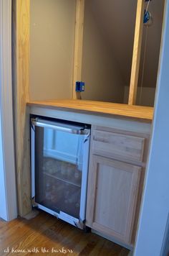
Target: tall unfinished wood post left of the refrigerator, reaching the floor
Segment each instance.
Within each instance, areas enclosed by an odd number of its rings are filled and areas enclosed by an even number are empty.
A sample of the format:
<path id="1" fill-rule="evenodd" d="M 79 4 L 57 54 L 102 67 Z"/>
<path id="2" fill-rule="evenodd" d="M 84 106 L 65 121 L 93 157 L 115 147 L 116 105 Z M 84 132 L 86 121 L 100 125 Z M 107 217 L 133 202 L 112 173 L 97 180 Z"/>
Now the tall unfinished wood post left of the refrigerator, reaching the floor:
<path id="1" fill-rule="evenodd" d="M 16 170 L 19 215 L 31 211 L 29 161 L 29 0 L 14 0 L 13 11 L 13 76 Z"/>

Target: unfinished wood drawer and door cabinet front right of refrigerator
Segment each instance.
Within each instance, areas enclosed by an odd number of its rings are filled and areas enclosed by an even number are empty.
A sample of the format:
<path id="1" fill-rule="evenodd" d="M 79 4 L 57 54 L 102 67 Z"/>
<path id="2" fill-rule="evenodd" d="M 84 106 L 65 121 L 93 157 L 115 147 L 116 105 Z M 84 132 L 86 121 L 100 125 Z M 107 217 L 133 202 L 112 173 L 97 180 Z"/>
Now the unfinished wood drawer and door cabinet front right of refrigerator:
<path id="1" fill-rule="evenodd" d="M 86 224 L 130 245 L 135 239 L 147 143 L 143 134 L 92 128 Z"/>

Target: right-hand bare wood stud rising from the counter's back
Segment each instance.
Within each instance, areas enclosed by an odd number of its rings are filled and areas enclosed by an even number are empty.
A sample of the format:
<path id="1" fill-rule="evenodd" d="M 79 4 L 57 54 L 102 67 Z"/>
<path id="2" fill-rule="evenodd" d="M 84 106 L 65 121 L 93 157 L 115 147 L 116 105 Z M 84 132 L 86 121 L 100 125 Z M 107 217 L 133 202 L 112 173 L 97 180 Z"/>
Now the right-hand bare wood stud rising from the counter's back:
<path id="1" fill-rule="evenodd" d="M 130 92 L 128 104 L 134 105 L 137 96 L 137 82 L 140 67 L 140 54 L 143 36 L 143 15 L 145 0 L 137 0 L 137 14 L 135 22 L 135 39 L 132 52 L 132 71 L 130 77 Z"/>

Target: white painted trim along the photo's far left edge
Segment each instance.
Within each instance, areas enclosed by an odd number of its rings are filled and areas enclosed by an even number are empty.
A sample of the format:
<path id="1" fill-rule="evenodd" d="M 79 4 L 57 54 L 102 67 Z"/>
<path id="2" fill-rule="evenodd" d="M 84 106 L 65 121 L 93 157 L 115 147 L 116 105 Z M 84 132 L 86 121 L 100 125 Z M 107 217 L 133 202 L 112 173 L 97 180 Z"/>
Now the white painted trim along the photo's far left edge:
<path id="1" fill-rule="evenodd" d="M 0 216 L 17 216 L 11 83 L 11 0 L 0 0 Z"/>

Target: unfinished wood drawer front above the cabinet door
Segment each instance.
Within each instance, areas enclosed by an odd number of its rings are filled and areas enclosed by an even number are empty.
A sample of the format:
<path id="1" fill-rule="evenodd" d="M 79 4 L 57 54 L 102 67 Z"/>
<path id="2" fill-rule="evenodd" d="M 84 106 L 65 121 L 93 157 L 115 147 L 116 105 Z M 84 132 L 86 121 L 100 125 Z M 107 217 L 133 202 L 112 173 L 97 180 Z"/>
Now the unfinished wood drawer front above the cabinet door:
<path id="1" fill-rule="evenodd" d="M 93 131 L 92 152 L 124 160 L 143 161 L 145 138 L 117 134 L 99 129 Z"/>

